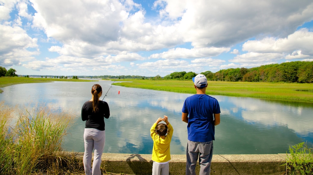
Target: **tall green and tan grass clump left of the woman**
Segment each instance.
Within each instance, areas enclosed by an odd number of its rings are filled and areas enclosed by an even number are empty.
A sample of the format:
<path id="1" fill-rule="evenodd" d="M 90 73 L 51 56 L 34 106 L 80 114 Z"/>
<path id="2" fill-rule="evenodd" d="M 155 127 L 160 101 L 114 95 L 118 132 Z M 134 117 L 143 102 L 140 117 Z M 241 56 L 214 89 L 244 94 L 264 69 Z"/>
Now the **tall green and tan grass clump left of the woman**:
<path id="1" fill-rule="evenodd" d="M 59 174 L 82 171 L 82 161 L 61 148 L 71 115 L 49 108 L 14 111 L 0 102 L 0 174 Z M 10 122 L 9 120 L 16 120 Z M 14 123 L 9 125 L 8 123 Z"/>

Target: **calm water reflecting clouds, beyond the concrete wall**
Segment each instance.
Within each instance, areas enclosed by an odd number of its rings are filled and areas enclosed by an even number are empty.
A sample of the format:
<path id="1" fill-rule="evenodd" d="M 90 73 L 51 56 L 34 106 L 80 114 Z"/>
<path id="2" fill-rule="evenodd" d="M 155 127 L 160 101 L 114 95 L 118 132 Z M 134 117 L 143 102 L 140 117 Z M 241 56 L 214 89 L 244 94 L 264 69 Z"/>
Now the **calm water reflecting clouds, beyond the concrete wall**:
<path id="1" fill-rule="evenodd" d="M 93 84 L 100 84 L 105 94 L 111 83 L 17 84 L 3 87 L 0 101 L 19 108 L 45 103 L 55 110 L 74 112 L 74 125 L 68 129 L 63 148 L 83 152 L 85 122 L 80 117 L 81 107 L 91 98 Z M 104 98 L 111 112 L 110 118 L 105 119 L 104 152 L 151 154 L 150 128 L 158 117 L 167 115 L 174 128 L 171 154 L 185 154 L 187 124 L 181 120 L 181 109 L 190 95 L 113 85 Z M 214 154 L 277 154 L 286 153 L 289 146 L 303 141 L 313 143 L 312 104 L 213 97 L 221 107 L 221 123 L 215 127 Z"/>

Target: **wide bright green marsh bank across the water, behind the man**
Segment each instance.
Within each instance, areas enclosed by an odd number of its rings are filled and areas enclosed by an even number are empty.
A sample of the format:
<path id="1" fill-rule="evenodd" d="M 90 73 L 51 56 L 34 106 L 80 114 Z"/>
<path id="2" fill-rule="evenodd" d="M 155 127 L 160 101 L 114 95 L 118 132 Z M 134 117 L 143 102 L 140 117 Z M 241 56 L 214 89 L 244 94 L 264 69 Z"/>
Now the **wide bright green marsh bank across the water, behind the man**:
<path id="1" fill-rule="evenodd" d="M 193 82 L 180 80 L 119 80 L 117 86 L 177 93 L 195 93 Z M 252 97 L 269 100 L 313 103 L 313 83 L 208 82 L 209 95 Z"/>

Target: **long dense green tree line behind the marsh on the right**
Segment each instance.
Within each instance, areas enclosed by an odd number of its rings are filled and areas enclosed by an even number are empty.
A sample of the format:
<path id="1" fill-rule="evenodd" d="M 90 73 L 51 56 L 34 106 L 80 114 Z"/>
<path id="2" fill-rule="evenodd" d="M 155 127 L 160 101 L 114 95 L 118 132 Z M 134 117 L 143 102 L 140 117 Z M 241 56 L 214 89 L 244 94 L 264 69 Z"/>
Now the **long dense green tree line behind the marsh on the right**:
<path id="1" fill-rule="evenodd" d="M 253 68 L 229 68 L 218 72 L 201 72 L 211 81 L 229 82 L 313 82 L 313 61 L 293 61 Z M 194 72 L 173 72 L 163 79 L 189 80 Z"/>

